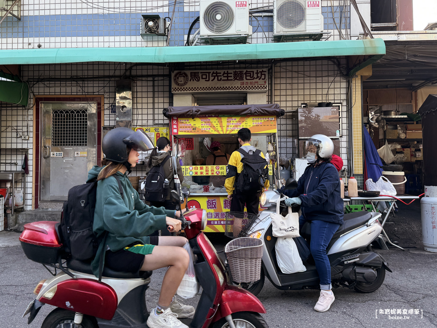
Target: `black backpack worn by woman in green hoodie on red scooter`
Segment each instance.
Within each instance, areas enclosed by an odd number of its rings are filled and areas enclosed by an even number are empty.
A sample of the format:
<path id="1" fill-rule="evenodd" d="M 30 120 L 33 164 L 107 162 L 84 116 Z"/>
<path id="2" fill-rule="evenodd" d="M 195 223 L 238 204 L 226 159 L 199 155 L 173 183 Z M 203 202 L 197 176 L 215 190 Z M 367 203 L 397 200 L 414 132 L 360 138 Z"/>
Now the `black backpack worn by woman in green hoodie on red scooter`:
<path id="1" fill-rule="evenodd" d="M 120 179 L 120 195 L 123 197 Z M 76 185 L 68 191 L 68 200 L 64 202 L 61 213 L 60 230 L 64 251 L 75 260 L 85 261 L 94 258 L 97 248 L 106 234 L 97 237 L 93 231 L 94 209 L 96 207 L 96 179 Z"/>

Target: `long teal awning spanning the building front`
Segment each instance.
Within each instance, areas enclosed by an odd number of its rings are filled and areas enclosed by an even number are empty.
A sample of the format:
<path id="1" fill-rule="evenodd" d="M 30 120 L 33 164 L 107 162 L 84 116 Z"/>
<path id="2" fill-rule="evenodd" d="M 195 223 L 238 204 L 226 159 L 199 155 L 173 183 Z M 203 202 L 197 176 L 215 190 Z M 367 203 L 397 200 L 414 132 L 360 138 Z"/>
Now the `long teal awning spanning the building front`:
<path id="1" fill-rule="evenodd" d="M 379 59 L 384 54 L 384 41 L 375 38 L 186 47 L 6 49 L 0 50 L 0 64 L 187 63 L 327 56 L 374 56 Z"/>

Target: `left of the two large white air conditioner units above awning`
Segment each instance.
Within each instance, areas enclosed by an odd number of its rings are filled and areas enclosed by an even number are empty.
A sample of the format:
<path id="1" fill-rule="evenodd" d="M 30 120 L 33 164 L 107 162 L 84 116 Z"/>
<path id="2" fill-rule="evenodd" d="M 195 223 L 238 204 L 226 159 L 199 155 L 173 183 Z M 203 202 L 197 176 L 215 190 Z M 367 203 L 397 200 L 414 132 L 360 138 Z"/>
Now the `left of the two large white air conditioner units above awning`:
<path id="1" fill-rule="evenodd" d="M 200 36 L 229 38 L 233 35 L 252 35 L 249 0 L 201 0 Z"/>

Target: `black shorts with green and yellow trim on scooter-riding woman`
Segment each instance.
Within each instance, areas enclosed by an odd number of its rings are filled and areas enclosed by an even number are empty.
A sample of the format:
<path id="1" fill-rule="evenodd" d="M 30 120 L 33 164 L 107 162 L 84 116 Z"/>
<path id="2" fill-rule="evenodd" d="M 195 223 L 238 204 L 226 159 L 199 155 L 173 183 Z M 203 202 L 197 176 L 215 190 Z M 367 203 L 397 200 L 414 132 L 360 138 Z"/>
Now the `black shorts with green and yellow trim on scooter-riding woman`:
<path id="1" fill-rule="evenodd" d="M 144 249 L 144 253 L 151 254 L 153 247 L 158 245 L 159 237 L 152 236 L 150 237 L 150 244 L 144 245 L 146 248 Z M 138 243 L 134 243 L 128 245 L 130 248 L 134 248 L 135 245 L 139 245 Z M 152 246 L 152 247 L 150 247 Z M 141 246 L 137 246 L 141 247 Z M 114 271 L 122 271 L 122 272 L 131 272 L 139 274 L 139 269 L 141 269 L 144 263 L 144 255 L 140 254 L 141 251 L 135 247 L 134 251 L 129 251 L 128 249 L 122 248 L 119 251 L 106 251 L 105 254 L 105 266 Z M 149 251 L 149 252 L 147 252 Z"/>

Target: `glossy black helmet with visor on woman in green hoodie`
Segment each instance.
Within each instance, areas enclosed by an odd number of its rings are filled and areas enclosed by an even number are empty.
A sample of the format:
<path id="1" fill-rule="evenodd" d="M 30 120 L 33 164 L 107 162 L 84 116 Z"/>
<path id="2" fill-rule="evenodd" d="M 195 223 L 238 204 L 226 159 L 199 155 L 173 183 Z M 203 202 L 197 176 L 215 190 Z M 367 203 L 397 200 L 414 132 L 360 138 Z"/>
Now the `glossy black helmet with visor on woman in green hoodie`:
<path id="1" fill-rule="evenodd" d="M 125 163 L 129 157 L 127 147 L 137 151 L 146 151 L 154 146 L 142 130 L 115 128 L 106 133 L 103 138 L 103 157 L 111 162 Z"/>

